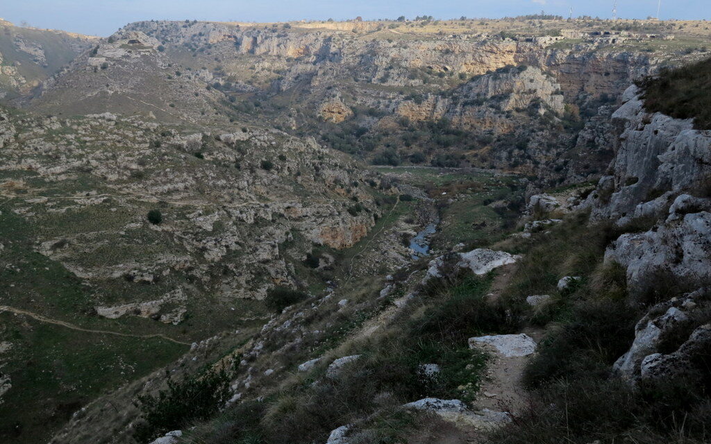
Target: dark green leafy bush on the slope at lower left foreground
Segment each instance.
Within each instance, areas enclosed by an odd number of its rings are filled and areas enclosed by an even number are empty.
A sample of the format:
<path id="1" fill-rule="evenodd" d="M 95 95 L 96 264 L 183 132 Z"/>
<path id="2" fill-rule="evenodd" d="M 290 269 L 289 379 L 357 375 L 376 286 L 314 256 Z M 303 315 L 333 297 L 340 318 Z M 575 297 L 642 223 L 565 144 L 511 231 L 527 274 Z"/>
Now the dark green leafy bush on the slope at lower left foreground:
<path id="1" fill-rule="evenodd" d="M 185 428 L 193 421 L 204 421 L 220 411 L 230 399 L 231 375 L 225 370 L 208 370 L 183 381 L 171 379 L 166 372 L 168 389 L 157 396 L 138 396 L 141 423 L 136 428 L 139 442 L 147 442 L 169 431 Z"/>

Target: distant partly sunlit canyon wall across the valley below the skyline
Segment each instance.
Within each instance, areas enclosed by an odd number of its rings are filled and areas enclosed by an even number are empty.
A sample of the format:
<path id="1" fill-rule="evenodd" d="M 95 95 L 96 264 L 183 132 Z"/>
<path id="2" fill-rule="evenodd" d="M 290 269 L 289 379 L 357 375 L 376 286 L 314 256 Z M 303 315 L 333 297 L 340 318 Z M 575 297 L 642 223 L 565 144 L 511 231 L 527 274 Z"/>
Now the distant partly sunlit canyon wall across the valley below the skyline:
<path id="1" fill-rule="evenodd" d="M 269 119 L 375 163 L 506 168 L 552 185 L 596 178 L 609 161 L 609 147 L 581 143 L 604 128 L 579 137 L 601 105 L 659 65 L 695 57 L 602 40 L 316 24 L 132 23 L 26 104 L 191 124 Z"/>

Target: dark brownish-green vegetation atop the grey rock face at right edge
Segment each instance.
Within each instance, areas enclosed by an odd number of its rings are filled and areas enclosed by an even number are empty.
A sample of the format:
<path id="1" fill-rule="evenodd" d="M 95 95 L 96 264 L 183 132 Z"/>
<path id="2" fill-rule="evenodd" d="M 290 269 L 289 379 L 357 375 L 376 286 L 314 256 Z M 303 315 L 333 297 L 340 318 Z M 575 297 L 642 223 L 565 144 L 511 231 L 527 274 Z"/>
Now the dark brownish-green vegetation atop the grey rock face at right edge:
<path id="1" fill-rule="evenodd" d="M 694 119 L 696 129 L 711 129 L 711 58 L 665 69 L 637 82 L 644 106 L 677 119 Z"/>

